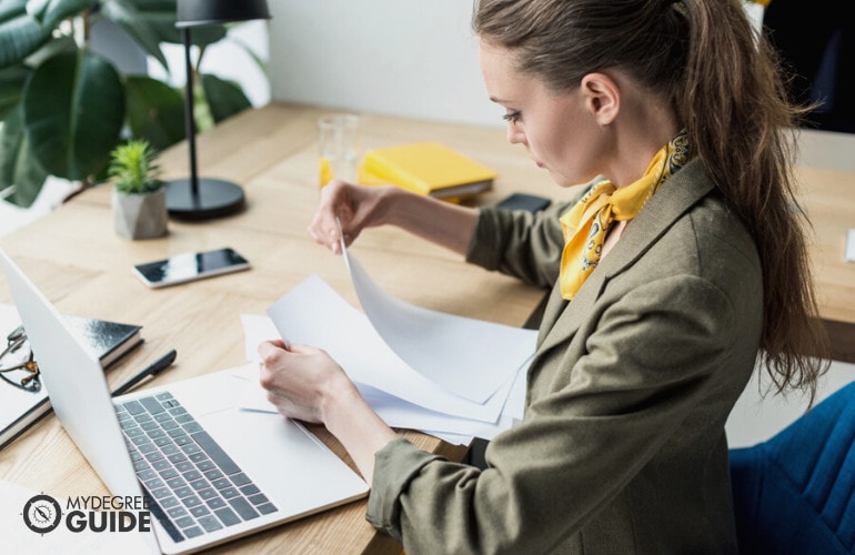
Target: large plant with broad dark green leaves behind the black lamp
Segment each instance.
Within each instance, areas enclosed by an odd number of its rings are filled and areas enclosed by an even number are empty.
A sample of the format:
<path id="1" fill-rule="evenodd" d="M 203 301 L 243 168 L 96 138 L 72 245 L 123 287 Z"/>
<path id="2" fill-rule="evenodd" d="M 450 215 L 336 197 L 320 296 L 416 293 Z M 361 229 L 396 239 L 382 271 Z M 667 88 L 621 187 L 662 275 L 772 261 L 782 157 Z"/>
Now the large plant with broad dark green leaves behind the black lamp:
<path id="1" fill-rule="evenodd" d="M 50 175 L 82 189 L 103 181 L 124 140 L 161 151 L 184 139 L 182 90 L 124 74 L 90 48 L 105 20 L 169 72 L 161 44 L 183 43 L 175 12 L 177 0 L 0 0 L 0 192 L 11 191 L 9 202 L 29 206 Z M 199 132 L 251 105 L 240 85 L 199 72 L 205 47 L 225 36 L 223 26 L 193 32 Z"/>

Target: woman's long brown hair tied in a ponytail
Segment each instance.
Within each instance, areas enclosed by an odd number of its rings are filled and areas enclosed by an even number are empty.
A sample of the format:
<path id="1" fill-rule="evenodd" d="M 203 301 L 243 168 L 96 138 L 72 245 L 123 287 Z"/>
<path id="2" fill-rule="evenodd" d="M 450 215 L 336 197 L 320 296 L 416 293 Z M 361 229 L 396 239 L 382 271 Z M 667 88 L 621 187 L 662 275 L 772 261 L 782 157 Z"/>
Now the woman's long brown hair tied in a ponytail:
<path id="1" fill-rule="evenodd" d="M 668 99 L 763 266 L 761 355 L 775 389 L 827 367 L 792 173 L 796 125 L 775 52 L 741 0 L 476 0 L 473 29 L 555 91 L 617 68 Z"/>

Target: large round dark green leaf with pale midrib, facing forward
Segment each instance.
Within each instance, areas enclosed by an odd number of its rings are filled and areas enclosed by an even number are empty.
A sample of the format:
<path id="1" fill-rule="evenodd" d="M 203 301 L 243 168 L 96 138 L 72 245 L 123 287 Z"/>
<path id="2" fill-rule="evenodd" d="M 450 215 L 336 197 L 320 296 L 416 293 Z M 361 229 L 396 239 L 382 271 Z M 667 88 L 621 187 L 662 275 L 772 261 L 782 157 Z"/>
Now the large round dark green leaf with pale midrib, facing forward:
<path id="1" fill-rule="evenodd" d="M 52 174 L 84 180 L 101 171 L 119 142 L 124 90 L 115 69 L 81 50 L 42 63 L 23 95 L 27 135 Z"/>

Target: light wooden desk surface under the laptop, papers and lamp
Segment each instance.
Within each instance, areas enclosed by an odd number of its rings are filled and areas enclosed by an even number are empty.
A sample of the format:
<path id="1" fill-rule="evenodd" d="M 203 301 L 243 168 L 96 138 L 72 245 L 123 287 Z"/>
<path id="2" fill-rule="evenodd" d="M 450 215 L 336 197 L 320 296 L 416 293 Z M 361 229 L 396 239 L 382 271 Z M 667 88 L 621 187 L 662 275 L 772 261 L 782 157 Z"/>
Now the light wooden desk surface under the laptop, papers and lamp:
<path id="1" fill-rule="evenodd" d="M 272 104 L 199 137 L 200 174 L 242 184 L 248 209 L 241 214 L 208 223 L 171 221 L 169 236 L 132 242 L 113 232 L 110 189 L 102 185 L 0 238 L 0 246 L 60 311 L 143 325 L 145 343 L 108 373 L 112 386 L 173 347 L 177 366 L 159 376 L 159 384 L 242 364 L 240 314 L 263 314 L 309 275 L 320 275 L 358 305 L 343 261 L 305 233 L 318 202 L 314 122 L 322 112 Z M 445 142 L 499 172 L 495 190 L 479 202 L 494 203 L 513 191 L 556 200 L 573 194 L 556 188 L 522 149 L 509 147 L 502 129 L 364 118 L 363 148 L 424 140 Z M 165 152 L 161 167 L 165 179 L 185 176 L 187 149 Z M 823 316 L 853 326 L 855 264 L 844 263 L 842 253 L 843 233 L 855 226 L 855 206 L 841 200 L 855 190 L 855 174 L 803 169 L 801 175 L 808 185 L 805 204 L 816 230 L 814 264 Z M 222 245 L 245 254 L 253 269 L 160 291 L 144 287 L 130 271 L 133 263 Z M 469 266 L 457 255 L 394 228 L 366 231 L 353 249 L 389 293 L 429 309 L 522 325 L 543 297 L 543 290 Z M 4 283 L 0 302 L 11 302 Z M 350 462 L 329 434 L 313 431 Z M 423 448 L 462 456 L 462 448 L 433 437 L 402 434 Z M 0 452 L 0 478 L 56 497 L 108 494 L 52 416 Z M 364 521 L 364 501 L 352 503 L 220 551 L 400 553 L 400 545 Z"/>

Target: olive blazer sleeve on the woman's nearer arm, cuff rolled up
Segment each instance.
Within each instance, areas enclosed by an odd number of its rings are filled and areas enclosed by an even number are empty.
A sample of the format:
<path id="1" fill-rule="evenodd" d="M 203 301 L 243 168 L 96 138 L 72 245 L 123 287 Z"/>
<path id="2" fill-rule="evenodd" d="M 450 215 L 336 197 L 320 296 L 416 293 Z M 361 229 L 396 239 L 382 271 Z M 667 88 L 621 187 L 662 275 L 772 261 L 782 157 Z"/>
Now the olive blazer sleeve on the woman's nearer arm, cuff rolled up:
<path id="1" fill-rule="evenodd" d="M 603 311 L 586 354 L 534 361 L 530 372 L 554 372 L 555 385 L 491 443 L 486 470 L 403 440 L 381 450 L 368 519 L 408 553 L 554 552 L 732 380 L 734 314 L 698 276 L 637 287 Z M 725 404 L 711 412 L 726 417 Z"/>

